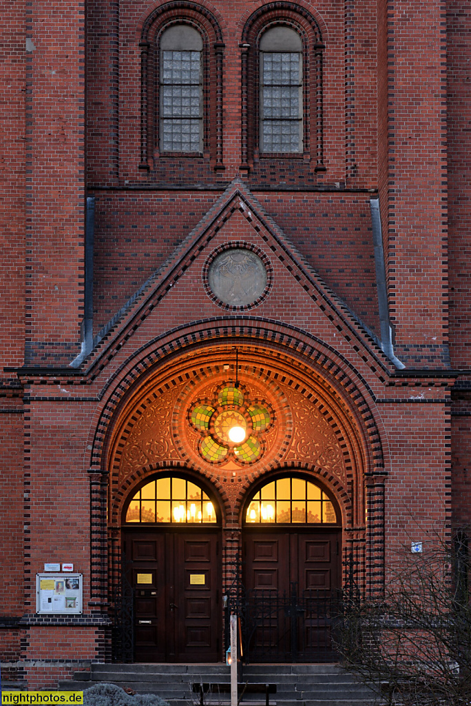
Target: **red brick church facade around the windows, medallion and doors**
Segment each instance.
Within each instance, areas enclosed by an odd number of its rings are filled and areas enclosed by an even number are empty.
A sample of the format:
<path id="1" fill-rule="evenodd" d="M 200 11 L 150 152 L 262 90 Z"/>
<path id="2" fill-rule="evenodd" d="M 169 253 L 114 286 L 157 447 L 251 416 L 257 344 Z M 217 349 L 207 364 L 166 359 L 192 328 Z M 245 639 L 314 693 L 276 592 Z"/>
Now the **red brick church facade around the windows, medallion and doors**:
<path id="1" fill-rule="evenodd" d="M 466 527 L 467 5 L 8 0 L 1 16 L 3 676 L 52 687 L 111 658 L 123 509 L 158 473 L 212 494 L 221 588 L 270 474 L 330 493 L 369 594 L 398 549 Z M 197 155 L 159 148 L 159 37 L 178 23 L 202 37 Z M 298 154 L 259 149 L 258 43 L 279 25 L 302 38 Z M 247 306 L 208 282 L 228 248 L 267 271 Z M 274 432 L 256 462 L 212 465 L 190 400 L 238 375 Z M 64 561 L 82 614 L 36 614 L 36 574 Z"/>

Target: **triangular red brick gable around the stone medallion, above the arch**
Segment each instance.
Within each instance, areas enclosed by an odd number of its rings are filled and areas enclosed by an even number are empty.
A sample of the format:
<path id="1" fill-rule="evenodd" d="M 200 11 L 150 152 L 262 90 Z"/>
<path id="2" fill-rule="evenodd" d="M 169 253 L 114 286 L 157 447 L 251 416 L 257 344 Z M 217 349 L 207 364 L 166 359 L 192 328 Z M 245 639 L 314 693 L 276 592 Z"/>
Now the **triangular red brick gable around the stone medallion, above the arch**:
<path id="1" fill-rule="evenodd" d="M 229 251 L 252 253 L 252 260 L 260 261 L 266 270 L 263 291 L 253 301 L 221 301 L 210 285 L 212 262 Z M 121 348 L 126 340 L 131 353 L 134 347 L 174 328 L 242 312 L 294 326 L 336 349 L 344 348 L 343 354 L 355 350 L 356 357 L 360 345 L 381 359 L 382 365 L 386 361 L 375 337 L 331 292 L 245 184 L 236 179 L 102 330 L 88 363 L 102 357 L 111 342 Z"/>

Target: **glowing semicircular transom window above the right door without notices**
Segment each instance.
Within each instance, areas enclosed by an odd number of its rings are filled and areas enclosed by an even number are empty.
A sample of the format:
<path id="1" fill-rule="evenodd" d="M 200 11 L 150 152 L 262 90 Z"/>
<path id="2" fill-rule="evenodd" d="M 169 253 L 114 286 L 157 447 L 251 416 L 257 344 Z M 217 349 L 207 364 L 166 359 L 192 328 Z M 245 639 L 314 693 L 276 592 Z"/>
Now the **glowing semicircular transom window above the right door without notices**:
<path id="1" fill-rule="evenodd" d="M 280 478 L 255 493 L 245 522 L 253 524 L 335 525 L 336 511 L 319 486 L 302 478 Z"/>

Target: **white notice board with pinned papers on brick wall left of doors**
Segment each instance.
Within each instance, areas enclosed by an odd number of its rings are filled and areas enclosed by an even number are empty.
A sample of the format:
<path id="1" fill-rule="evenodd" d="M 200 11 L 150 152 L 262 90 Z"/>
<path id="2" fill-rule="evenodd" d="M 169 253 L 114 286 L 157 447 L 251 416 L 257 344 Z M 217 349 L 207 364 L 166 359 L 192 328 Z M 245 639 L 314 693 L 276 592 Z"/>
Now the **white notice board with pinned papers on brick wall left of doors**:
<path id="1" fill-rule="evenodd" d="M 36 574 L 36 612 L 76 614 L 82 612 L 82 574 Z"/>

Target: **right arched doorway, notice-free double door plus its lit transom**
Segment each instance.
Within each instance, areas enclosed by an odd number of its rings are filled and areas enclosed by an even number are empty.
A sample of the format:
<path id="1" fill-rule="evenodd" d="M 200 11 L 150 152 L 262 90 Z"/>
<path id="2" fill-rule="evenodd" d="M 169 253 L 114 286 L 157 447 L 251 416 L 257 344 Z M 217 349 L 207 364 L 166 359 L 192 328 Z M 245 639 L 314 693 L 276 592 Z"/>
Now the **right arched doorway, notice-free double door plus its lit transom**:
<path id="1" fill-rule="evenodd" d="M 274 474 L 243 509 L 245 652 L 251 662 L 324 662 L 341 589 L 341 513 L 319 480 Z"/>

